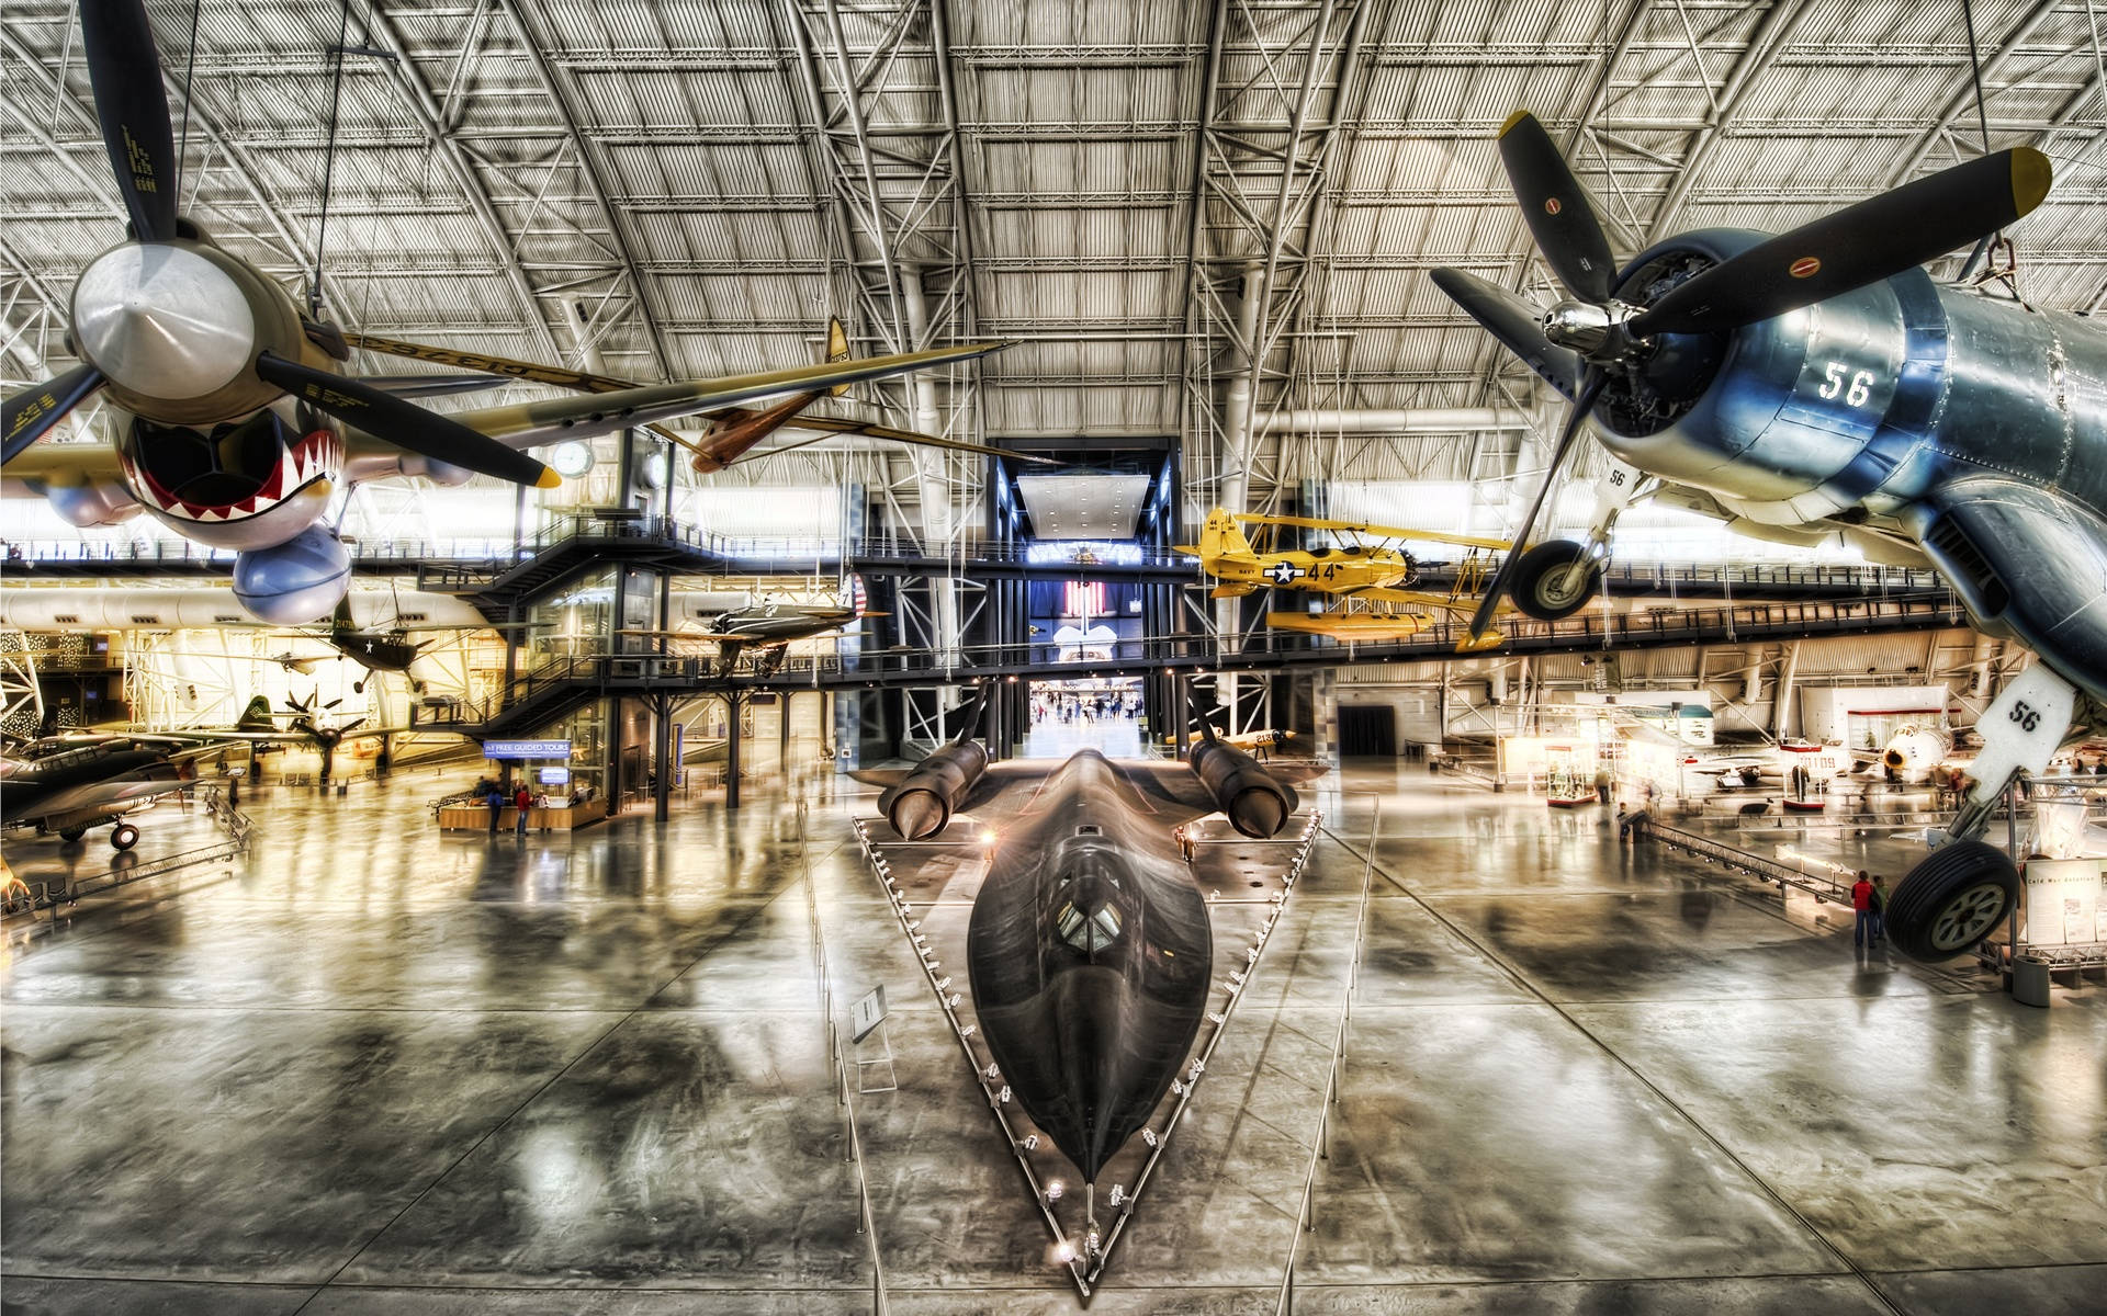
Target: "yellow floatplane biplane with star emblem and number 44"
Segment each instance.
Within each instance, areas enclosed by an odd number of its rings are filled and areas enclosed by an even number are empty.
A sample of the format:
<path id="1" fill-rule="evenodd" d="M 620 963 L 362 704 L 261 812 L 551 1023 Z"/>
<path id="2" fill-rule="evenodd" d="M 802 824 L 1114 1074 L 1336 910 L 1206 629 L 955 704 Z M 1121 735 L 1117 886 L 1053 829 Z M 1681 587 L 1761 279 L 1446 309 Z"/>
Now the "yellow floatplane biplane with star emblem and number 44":
<path id="1" fill-rule="evenodd" d="M 1243 535 L 1243 524 L 1332 531 L 1346 537 L 1348 543 L 1260 552 Z M 1456 564 L 1454 583 L 1448 590 L 1414 590 L 1412 585 L 1420 579 L 1420 562 L 1401 543 L 1448 543 L 1466 550 Z M 1178 547 L 1178 552 L 1199 558 L 1201 571 L 1216 581 L 1209 598 L 1243 598 L 1256 590 L 1302 590 L 1346 600 L 1346 606 L 1325 613 L 1266 613 L 1266 623 L 1348 642 L 1416 636 L 1426 627 L 1429 611 L 1469 615 L 1492 577 L 1494 554 L 1507 550 L 1507 539 L 1376 526 L 1359 520 L 1262 516 L 1224 507 L 1207 514 L 1197 545 Z M 1458 649 L 1494 649 L 1500 640 L 1502 636 L 1488 632 L 1483 640 L 1466 640 Z"/>

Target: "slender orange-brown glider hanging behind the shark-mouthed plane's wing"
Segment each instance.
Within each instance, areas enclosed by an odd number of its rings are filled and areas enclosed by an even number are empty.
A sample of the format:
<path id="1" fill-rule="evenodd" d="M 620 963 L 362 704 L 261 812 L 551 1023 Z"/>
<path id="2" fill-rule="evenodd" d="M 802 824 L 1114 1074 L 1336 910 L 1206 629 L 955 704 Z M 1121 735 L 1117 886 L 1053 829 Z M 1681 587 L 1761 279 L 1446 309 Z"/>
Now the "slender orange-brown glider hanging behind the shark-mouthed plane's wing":
<path id="1" fill-rule="evenodd" d="M 615 379 L 613 375 L 598 375 L 592 371 L 567 371 L 560 366 L 537 366 L 525 360 L 512 360 L 506 356 L 491 356 L 487 352 L 459 352 L 455 347 L 432 347 L 426 343 L 405 343 L 400 339 L 383 339 L 371 333 L 348 333 L 343 339 L 352 347 L 362 347 L 367 352 L 388 352 L 394 356 L 409 356 L 415 360 L 428 360 L 447 366 L 459 366 L 464 371 L 491 371 L 508 379 L 527 379 L 533 383 L 548 383 L 554 387 L 567 387 L 584 394 L 613 394 L 622 390 L 632 390 L 636 383 L 626 379 Z M 841 320 L 826 322 L 826 362 L 847 364 L 855 358 L 849 356 L 849 335 L 843 331 Z M 1030 461 L 1037 465 L 1060 465 L 1051 457 L 1032 457 L 1028 453 L 1011 453 L 1009 448 L 992 448 L 986 444 L 965 442 L 959 438 L 942 438 L 936 434 L 919 434 L 914 430 L 893 430 L 889 425 L 877 425 L 870 421 L 849 421 L 828 415 L 803 415 L 813 402 L 849 392 L 847 383 L 836 383 L 832 387 L 809 387 L 794 392 L 782 402 L 773 402 L 765 411 L 752 411 L 748 406 L 721 406 L 706 411 L 704 417 L 710 421 L 710 430 L 697 440 L 672 430 L 668 425 L 647 425 L 659 438 L 672 442 L 674 446 L 687 448 L 689 461 L 697 474 L 714 474 L 740 461 L 742 457 L 775 457 L 777 453 L 790 453 L 839 434 L 864 434 L 868 438 L 881 438 L 887 442 L 900 442 L 923 448 L 950 448 L 957 453 L 980 453 L 984 457 L 1003 457 L 1007 461 Z M 799 442 L 786 442 L 767 453 L 752 453 L 769 434 L 777 430 L 811 430 L 813 438 Z"/>

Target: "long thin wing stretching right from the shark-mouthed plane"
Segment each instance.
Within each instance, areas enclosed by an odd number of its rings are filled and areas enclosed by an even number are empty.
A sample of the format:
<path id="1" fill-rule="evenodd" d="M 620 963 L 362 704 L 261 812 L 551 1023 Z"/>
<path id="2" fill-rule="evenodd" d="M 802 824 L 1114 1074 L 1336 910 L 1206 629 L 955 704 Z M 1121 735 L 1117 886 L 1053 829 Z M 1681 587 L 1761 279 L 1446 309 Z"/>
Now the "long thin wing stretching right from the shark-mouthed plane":
<path id="1" fill-rule="evenodd" d="M 1007 343 L 963 343 L 959 347 L 929 347 L 927 352 L 900 352 L 895 356 L 866 356 L 847 362 L 818 366 L 792 366 L 788 371 L 763 371 L 759 375 L 727 375 L 721 379 L 683 379 L 678 383 L 651 383 L 579 398 L 550 398 L 544 402 L 516 402 L 510 406 L 485 406 L 478 411 L 457 411 L 449 419 L 497 438 L 514 448 L 563 442 L 571 438 L 592 438 L 636 425 L 670 421 L 697 411 L 716 411 L 750 398 L 771 394 L 794 394 L 826 390 L 836 383 L 858 379 L 883 379 L 927 366 L 976 360 L 999 352 Z"/>

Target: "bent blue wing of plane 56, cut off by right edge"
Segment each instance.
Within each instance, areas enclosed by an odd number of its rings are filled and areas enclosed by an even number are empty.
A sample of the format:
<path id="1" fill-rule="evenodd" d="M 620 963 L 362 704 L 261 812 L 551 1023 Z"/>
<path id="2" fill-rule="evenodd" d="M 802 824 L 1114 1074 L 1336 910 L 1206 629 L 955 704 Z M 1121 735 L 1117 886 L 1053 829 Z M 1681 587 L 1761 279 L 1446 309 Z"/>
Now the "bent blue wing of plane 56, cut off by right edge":
<path id="1" fill-rule="evenodd" d="M 2002 476 L 1949 480 L 1926 505 L 1917 539 L 1976 623 L 2008 625 L 2059 676 L 2107 699 L 2107 520 Z"/>

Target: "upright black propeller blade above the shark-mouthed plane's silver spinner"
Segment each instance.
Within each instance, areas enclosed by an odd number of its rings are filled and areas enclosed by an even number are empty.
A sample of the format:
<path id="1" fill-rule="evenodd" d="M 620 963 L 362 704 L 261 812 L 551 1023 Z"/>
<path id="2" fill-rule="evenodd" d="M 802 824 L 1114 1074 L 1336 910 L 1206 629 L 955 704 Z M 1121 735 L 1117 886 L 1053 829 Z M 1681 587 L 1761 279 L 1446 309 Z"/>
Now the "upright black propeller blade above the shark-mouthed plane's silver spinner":
<path id="1" fill-rule="evenodd" d="M 175 135 L 160 91 L 154 25 L 139 0 L 80 0 L 80 46 L 95 84 L 95 118 L 124 194 L 133 236 L 175 236 Z"/>

